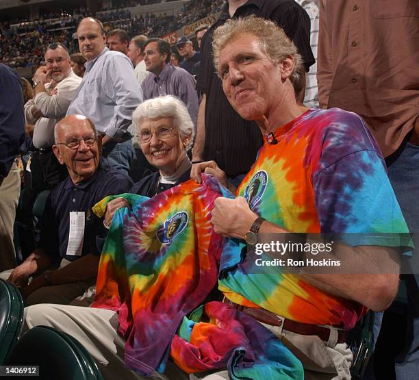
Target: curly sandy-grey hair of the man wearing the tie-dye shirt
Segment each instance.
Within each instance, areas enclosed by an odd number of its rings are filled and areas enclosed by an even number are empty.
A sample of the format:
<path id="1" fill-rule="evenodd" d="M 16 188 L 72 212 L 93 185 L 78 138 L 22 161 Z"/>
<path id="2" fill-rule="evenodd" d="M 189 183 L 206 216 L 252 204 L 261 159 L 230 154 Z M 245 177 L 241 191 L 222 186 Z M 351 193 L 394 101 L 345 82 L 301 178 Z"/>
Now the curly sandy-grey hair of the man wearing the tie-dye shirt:
<path id="1" fill-rule="evenodd" d="M 218 73 L 220 51 L 227 43 L 240 37 L 242 34 L 253 34 L 259 39 L 262 52 L 275 63 L 281 63 L 285 58 L 294 58 L 294 72 L 291 81 L 299 76 L 296 68 L 301 67 L 303 59 L 298 53 L 296 46 L 285 34 L 285 31 L 274 22 L 256 16 L 235 18 L 228 20 L 214 31 L 212 47 L 214 49 L 214 66 Z"/>

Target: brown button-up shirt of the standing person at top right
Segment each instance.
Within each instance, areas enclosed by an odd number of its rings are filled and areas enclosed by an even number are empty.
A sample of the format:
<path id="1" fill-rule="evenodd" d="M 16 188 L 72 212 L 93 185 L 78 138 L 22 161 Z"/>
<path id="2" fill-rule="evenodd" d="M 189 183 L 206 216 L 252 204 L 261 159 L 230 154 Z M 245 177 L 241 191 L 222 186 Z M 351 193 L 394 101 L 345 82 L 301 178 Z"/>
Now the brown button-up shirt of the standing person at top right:
<path id="1" fill-rule="evenodd" d="M 419 129 L 418 0 L 320 0 L 320 107 L 364 118 L 383 155 Z"/>

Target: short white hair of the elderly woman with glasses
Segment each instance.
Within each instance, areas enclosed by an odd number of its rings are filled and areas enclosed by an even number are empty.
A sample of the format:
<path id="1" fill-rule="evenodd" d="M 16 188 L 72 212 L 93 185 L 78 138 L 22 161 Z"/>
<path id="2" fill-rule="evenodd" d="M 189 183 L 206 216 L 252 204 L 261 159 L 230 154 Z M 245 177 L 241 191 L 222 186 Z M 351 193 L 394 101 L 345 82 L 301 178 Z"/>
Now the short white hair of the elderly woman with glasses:
<path id="1" fill-rule="evenodd" d="M 132 114 L 132 123 L 135 134 L 140 131 L 142 121 L 145 119 L 172 118 L 173 125 L 179 129 L 181 138 L 190 138 L 186 150 L 192 147 L 194 142 L 194 123 L 190 118 L 185 103 L 173 95 L 164 95 L 144 101 Z"/>

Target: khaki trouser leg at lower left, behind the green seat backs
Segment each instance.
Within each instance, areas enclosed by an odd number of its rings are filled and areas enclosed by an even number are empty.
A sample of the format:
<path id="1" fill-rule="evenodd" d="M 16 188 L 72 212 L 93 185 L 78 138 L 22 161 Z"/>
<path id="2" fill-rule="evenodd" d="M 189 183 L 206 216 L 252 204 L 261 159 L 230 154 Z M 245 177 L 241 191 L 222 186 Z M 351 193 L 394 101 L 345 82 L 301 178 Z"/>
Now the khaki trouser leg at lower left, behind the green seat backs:
<path id="1" fill-rule="evenodd" d="M 164 375 L 138 375 L 125 367 L 125 340 L 118 335 L 118 314 L 106 309 L 73 305 L 33 305 L 25 307 L 23 331 L 32 327 L 51 326 L 76 338 L 92 355 L 104 379 L 173 379 L 188 380 L 189 376 L 168 362 Z"/>

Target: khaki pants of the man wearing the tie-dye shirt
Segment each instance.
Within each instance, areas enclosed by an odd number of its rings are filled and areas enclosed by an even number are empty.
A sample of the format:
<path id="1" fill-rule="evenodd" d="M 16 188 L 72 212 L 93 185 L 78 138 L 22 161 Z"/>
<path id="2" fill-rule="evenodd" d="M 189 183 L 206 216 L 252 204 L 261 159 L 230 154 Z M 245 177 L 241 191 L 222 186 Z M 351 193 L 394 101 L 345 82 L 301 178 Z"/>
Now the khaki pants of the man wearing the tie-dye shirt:
<path id="1" fill-rule="evenodd" d="M 70 334 L 92 355 L 105 379 L 149 379 L 125 368 L 123 354 L 125 340 L 116 332 L 118 315 L 106 309 L 77 307 L 73 305 L 42 304 L 25 307 L 25 329 L 47 325 Z M 317 336 L 299 335 L 280 331 L 279 327 L 266 325 L 281 338 L 285 346 L 299 357 L 305 369 L 305 379 L 351 379 L 349 366 L 351 350 L 344 343 L 328 347 Z M 168 363 L 164 375 L 155 372 L 151 379 L 229 379 L 227 370 L 202 376 L 188 375 L 175 364 Z M 303 380 L 303 379 L 301 379 Z"/>

